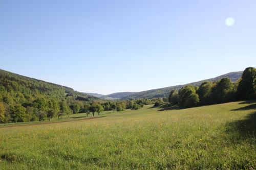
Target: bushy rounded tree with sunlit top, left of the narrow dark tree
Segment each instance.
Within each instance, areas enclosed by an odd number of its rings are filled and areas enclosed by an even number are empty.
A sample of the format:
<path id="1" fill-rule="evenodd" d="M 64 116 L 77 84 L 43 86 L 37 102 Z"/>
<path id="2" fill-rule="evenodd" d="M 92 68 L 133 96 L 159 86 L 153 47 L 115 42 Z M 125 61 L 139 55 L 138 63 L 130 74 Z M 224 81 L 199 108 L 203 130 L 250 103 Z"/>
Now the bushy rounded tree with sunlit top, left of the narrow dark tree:
<path id="1" fill-rule="evenodd" d="M 195 107 L 199 104 L 199 96 L 196 93 L 196 89 L 195 86 L 188 85 L 179 90 L 179 104 L 181 107 Z"/>

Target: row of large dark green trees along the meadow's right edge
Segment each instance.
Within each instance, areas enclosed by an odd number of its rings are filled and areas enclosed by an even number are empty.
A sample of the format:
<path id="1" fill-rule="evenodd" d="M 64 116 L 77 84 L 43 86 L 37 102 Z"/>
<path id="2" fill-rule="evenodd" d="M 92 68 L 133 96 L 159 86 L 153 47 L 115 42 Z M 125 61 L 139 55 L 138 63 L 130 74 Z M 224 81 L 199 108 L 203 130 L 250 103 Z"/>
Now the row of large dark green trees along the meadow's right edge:
<path id="1" fill-rule="evenodd" d="M 199 87 L 188 85 L 170 91 L 168 102 L 189 108 L 252 99 L 256 99 L 256 68 L 248 67 L 235 83 L 223 78 L 214 83 L 203 82 Z"/>

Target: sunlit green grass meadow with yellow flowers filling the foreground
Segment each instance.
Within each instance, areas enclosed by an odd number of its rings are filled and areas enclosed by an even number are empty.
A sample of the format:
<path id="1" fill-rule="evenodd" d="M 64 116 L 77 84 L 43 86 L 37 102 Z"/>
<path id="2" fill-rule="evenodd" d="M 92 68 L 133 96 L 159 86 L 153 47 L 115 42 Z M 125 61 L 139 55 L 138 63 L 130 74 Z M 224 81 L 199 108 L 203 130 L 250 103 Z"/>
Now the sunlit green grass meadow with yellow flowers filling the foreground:
<path id="1" fill-rule="evenodd" d="M 151 107 L 2 126 L 0 169 L 256 169 L 255 101 Z"/>

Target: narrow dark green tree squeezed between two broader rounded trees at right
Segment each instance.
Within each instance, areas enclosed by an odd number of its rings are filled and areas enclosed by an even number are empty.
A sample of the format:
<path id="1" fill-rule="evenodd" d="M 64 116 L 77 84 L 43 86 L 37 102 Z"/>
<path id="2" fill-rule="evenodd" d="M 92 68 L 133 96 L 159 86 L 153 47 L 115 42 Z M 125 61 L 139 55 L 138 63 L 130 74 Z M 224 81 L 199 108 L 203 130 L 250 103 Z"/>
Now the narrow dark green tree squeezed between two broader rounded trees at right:
<path id="1" fill-rule="evenodd" d="M 209 105 L 212 103 L 211 88 L 212 88 L 211 82 L 203 82 L 199 86 L 197 93 L 199 95 L 200 105 Z"/>

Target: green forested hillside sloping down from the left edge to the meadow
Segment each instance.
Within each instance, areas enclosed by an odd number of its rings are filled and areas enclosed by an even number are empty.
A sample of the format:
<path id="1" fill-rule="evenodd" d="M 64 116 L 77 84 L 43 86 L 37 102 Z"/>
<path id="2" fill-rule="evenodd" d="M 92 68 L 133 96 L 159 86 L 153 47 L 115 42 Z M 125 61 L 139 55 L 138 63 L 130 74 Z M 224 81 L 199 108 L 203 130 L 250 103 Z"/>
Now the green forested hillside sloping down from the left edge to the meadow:
<path id="1" fill-rule="evenodd" d="M 28 122 L 82 112 L 86 103 L 94 101 L 101 100 L 0 69 L 0 122 Z"/>

